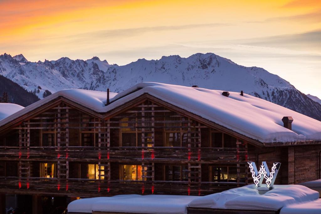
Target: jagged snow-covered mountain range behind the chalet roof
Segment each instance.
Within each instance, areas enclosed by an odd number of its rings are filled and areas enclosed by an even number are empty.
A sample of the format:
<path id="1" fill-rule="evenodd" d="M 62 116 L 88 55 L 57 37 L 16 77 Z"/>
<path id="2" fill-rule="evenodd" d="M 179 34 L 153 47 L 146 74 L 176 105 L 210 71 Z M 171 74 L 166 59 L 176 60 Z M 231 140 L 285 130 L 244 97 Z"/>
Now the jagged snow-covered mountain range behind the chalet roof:
<path id="1" fill-rule="evenodd" d="M 142 81 L 154 81 L 202 88 L 240 91 L 266 99 L 321 120 L 321 104 L 301 93 L 288 81 L 263 68 L 245 67 L 213 53 L 187 58 L 163 56 L 159 60 L 139 59 L 118 66 L 101 61 L 71 60 L 29 62 L 24 56 L 0 55 L 0 74 L 42 98 L 69 88 L 120 92 Z M 40 89 L 39 89 L 40 88 Z M 38 90 L 39 89 L 39 90 Z"/>

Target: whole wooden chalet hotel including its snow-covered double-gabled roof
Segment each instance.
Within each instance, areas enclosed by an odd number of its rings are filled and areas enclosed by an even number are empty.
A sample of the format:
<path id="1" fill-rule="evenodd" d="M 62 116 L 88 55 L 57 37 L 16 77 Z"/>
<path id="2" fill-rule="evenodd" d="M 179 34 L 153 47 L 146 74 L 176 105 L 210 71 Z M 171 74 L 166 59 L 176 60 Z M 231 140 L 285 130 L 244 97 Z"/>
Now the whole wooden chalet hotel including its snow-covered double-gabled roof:
<path id="1" fill-rule="evenodd" d="M 243 93 L 61 90 L 0 120 L 1 209 L 13 194 L 33 213 L 52 197 L 206 195 L 252 183 L 247 161 L 298 184 L 320 178 L 320 140 L 320 121 Z"/>

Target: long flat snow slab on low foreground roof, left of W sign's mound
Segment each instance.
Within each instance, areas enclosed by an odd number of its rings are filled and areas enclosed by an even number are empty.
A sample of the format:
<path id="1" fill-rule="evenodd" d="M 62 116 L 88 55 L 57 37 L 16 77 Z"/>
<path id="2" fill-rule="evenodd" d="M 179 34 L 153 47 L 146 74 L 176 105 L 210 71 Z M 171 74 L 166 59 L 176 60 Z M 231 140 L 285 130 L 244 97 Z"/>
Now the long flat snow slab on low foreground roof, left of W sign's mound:
<path id="1" fill-rule="evenodd" d="M 86 198 L 68 204 L 68 212 L 91 213 L 187 213 L 188 204 L 200 196 L 186 195 L 117 195 L 112 197 Z"/>

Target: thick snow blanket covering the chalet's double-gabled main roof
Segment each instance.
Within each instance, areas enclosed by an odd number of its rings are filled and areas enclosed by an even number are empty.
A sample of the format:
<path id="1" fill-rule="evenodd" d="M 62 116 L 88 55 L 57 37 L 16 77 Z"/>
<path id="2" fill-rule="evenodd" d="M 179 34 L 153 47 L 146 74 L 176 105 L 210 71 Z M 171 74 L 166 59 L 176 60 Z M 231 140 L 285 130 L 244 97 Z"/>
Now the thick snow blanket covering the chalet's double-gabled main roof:
<path id="1" fill-rule="evenodd" d="M 59 96 L 104 113 L 144 93 L 260 142 L 321 141 L 320 121 L 264 99 L 248 94 L 241 96 L 239 92 L 230 92 L 230 96 L 225 97 L 221 90 L 155 82 L 138 83 L 119 94 L 110 93 L 108 106 L 105 106 L 106 92 L 61 90 L 5 118 L 0 121 L 0 126 Z M 283 116 L 294 119 L 292 130 L 283 127 Z"/>

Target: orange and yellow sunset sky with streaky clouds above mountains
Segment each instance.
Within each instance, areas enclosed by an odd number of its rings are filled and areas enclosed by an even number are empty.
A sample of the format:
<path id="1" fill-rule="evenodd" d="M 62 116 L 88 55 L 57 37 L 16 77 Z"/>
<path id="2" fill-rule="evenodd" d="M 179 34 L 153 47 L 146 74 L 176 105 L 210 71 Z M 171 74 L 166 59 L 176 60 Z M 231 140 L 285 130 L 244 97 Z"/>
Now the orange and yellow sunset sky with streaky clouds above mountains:
<path id="1" fill-rule="evenodd" d="M 0 0 L 0 54 L 29 61 L 212 52 L 321 98 L 321 1 Z"/>

